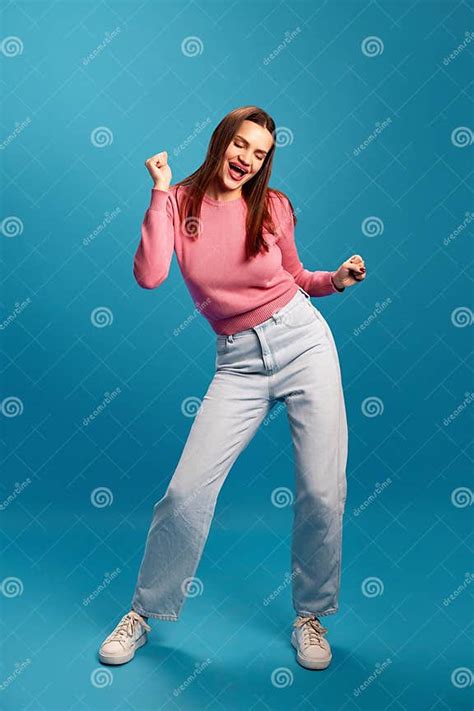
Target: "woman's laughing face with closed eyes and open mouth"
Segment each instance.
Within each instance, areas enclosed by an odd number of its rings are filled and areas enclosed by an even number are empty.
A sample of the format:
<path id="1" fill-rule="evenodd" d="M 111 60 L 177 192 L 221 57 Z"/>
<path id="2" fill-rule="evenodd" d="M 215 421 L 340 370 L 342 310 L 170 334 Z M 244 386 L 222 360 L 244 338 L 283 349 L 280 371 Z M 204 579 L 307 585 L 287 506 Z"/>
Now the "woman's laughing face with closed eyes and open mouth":
<path id="1" fill-rule="evenodd" d="M 224 154 L 219 173 L 222 187 L 240 190 L 258 173 L 272 145 L 273 136 L 268 129 L 253 121 L 242 121 Z"/>

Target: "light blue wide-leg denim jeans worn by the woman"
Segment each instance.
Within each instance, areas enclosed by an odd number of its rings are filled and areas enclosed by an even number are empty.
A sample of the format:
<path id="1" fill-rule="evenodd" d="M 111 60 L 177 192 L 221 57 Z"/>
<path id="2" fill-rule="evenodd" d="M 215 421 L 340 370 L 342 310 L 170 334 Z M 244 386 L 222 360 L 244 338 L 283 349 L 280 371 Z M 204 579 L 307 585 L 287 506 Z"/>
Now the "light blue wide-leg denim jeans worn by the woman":
<path id="1" fill-rule="evenodd" d="M 348 451 L 331 330 L 299 287 L 266 321 L 216 335 L 215 367 L 166 493 L 154 506 L 132 608 L 178 619 L 227 474 L 271 408 L 284 402 L 296 469 L 293 606 L 298 615 L 330 615 L 338 609 Z"/>

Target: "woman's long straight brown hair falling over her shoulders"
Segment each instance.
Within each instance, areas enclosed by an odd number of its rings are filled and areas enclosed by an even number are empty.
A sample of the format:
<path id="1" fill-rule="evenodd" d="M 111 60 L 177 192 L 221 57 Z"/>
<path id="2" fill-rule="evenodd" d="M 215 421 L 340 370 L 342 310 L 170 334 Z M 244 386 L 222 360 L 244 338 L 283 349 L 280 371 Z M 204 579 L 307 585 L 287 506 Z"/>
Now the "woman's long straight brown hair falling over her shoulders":
<path id="1" fill-rule="evenodd" d="M 187 188 L 183 191 L 181 204 L 178 200 L 180 221 L 184 224 L 184 232 L 191 239 L 197 239 L 201 228 L 199 216 L 203 197 L 210 183 L 218 175 L 224 154 L 240 124 L 245 120 L 253 121 L 268 129 L 273 136 L 273 145 L 265 156 L 262 166 L 253 178 L 242 186 L 242 196 L 247 205 L 246 258 L 250 259 L 262 249 L 268 252 L 268 245 L 263 237 L 263 228 L 271 233 L 274 233 L 276 229 L 269 209 L 270 192 L 279 199 L 286 198 L 289 201 L 293 212 L 293 222 L 296 224 L 296 215 L 289 198 L 280 190 L 268 187 L 276 145 L 276 127 L 272 117 L 266 111 L 258 106 L 242 106 L 224 116 L 211 136 L 204 163 L 194 173 L 176 183 L 175 187 Z"/>

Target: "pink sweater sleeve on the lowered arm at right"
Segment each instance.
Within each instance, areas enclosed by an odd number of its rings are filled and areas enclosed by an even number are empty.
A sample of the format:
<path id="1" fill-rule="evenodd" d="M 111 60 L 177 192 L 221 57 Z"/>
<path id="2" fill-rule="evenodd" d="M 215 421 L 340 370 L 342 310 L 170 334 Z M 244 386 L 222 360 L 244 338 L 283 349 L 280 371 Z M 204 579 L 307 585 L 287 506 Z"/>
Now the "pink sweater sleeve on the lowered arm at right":
<path id="1" fill-rule="evenodd" d="M 334 271 L 309 271 L 305 269 L 298 255 L 295 243 L 295 225 L 290 204 L 285 200 L 284 214 L 280 222 L 278 246 L 282 254 L 283 268 L 293 275 L 295 282 L 310 296 L 329 296 L 341 293 L 331 281 Z"/>

